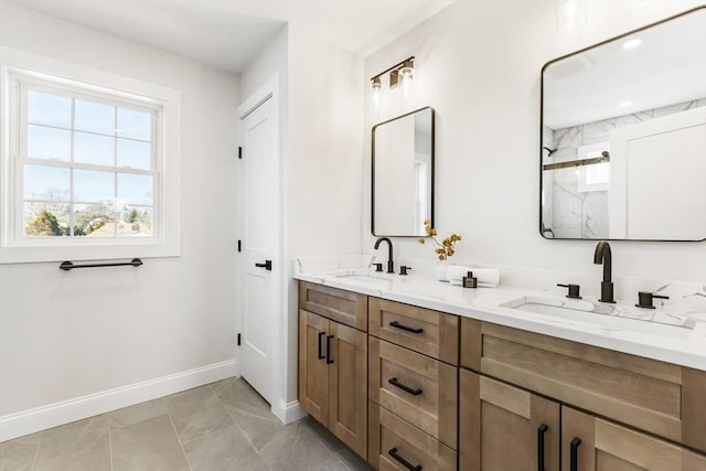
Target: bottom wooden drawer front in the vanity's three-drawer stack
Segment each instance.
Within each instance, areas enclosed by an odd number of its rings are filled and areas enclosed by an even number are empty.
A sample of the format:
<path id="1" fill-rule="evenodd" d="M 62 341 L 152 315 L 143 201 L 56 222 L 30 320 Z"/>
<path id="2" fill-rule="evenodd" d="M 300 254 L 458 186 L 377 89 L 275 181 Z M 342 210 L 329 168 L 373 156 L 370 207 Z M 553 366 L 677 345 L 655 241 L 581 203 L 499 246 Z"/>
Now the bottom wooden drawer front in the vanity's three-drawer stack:
<path id="1" fill-rule="evenodd" d="M 457 470 L 457 453 L 434 437 L 371 402 L 368 461 L 378 470 Z"/>

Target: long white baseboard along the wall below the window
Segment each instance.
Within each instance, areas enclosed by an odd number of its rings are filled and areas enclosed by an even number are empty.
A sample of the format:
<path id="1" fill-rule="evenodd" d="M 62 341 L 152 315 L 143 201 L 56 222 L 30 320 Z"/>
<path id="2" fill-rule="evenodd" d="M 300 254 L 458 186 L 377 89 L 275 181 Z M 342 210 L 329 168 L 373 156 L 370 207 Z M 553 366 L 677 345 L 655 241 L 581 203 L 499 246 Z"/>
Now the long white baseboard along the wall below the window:
<path id="1" fill-rule="evenodd" d="M 0 441 L 232 377 L 235 360 L 0 417 Z"/>

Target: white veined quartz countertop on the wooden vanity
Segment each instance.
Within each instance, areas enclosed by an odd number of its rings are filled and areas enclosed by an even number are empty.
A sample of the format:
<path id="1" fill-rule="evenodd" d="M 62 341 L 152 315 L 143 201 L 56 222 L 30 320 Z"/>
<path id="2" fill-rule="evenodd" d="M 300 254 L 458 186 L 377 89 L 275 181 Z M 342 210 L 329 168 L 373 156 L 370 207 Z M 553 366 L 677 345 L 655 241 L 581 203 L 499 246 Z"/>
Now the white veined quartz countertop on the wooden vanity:
<path id="1" fill-rule="evenodd" d="M 695 322 L 692 322 L 694 329 L 688 329 L 595 312 L 544 314 L 501 304 L 523 297 L 560 300 L 561 297 L 556 292 L 502 285 L 496 288 L 470 289 L 421 276 L 404 277 L 365 269 L 295 271 L 295 278 L 302 281 L 706 371 L 706 317 L 697 315 Z M 610 307 L 614 312 L 625 315 L 639 315 L 645 311 L 650 315 L 668 317 L 672 313 L 662 308 L 649 311 L 629 303 L 605 304 L 585 299 L 599 308 Z"/>

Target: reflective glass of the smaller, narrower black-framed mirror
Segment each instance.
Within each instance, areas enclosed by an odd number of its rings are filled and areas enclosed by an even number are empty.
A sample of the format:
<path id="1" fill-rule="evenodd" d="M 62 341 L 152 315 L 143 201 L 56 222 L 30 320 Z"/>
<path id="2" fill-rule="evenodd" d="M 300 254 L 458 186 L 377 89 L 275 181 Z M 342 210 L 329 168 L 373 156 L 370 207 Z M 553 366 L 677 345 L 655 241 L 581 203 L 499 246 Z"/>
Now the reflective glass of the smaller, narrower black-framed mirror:
<path id="1" fill-rule="evenodd" d="M 373 127 L 372 231 L 425 236 L 434 224 L 434 109 L 421 108 Z"/>

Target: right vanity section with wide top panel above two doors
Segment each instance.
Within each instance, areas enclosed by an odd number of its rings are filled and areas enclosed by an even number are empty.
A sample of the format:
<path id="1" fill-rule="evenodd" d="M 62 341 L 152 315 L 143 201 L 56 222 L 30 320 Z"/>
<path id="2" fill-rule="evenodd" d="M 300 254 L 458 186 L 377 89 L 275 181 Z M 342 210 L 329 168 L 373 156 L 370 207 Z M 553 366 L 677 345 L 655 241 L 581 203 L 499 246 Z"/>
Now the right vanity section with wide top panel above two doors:
<path id="1" fill-rule="evenodd" d="M 461 469 L 706 470 L 706 372 L 471 319 L 461 366 Z"/>

